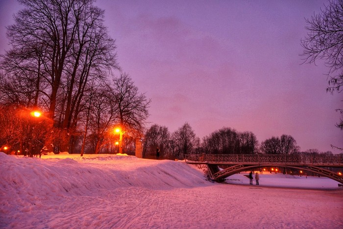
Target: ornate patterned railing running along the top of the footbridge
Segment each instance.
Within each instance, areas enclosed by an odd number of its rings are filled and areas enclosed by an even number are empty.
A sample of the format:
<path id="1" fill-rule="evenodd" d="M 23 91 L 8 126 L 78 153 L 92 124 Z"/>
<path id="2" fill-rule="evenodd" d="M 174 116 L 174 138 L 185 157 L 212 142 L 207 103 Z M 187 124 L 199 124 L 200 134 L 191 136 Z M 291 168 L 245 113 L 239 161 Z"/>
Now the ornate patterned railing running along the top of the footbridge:
<path id="1" fill-rule="evenodd" d="M 186 161 L 208 163 L 265 163 L 342 165 L 343 154 L 186 154 Z"/>

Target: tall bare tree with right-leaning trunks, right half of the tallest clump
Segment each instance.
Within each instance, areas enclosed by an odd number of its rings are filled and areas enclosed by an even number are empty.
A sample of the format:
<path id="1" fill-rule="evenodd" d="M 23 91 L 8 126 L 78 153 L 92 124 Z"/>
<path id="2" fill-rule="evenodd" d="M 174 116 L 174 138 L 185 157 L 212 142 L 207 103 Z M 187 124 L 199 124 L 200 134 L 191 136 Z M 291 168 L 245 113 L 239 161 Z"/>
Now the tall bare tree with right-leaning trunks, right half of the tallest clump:
<path id="1" fill-rule="evenodd" d="M 72 71 L 66 71 L 68 89 L 63 128 L 76 127 L 87 83 L 105 79 L 106 72 L 103 70 L 119 69 L 112 52 L 115 49 L 114 41 L 108 37 L 106 28 L 100 23 L 102 17 L 103 11 L 94 6 L 79 15 L 77 42 L 73 44 L 72 56 L 66 63 L 66 69 Z"/>

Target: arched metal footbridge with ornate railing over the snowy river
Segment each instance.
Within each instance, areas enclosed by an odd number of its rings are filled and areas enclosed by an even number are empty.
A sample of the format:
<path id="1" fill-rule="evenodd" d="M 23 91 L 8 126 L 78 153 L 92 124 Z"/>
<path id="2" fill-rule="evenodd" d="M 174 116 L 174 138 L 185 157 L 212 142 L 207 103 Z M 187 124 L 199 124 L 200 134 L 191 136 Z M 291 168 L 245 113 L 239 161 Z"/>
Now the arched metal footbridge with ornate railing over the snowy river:
<path id="1" fill-rule="evenodd" d="M 211 179 L 221 181 L 261 167 L 286 167 L 317 173 L 343 183 L 343 175 L 327 168 L 343 168 L 343 154 L 186 154 L 186 163 L 206 164 Z M 226 169 L 221 170 L 224 165 Z"/>

